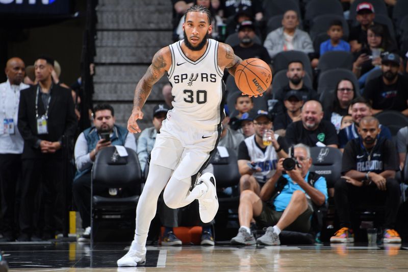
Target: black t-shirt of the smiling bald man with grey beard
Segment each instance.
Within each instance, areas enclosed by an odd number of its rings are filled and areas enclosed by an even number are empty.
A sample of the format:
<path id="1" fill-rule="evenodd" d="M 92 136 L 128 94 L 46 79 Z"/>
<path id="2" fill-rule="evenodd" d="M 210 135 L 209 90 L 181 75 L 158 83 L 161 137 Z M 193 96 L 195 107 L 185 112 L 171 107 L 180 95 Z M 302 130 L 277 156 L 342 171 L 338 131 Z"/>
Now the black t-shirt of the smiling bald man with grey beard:
<path id="1" fill-rule="evenodd" d="M 305 129 L 301 120 L 293 122 L 286 128 L 285 138 L 289 145 L 303 143 L 316 146 L 317 142 L 325 145 L 339 145 L 335 126 L 324 119 L 320 121 L 319 127 L 313 131 Z"/>

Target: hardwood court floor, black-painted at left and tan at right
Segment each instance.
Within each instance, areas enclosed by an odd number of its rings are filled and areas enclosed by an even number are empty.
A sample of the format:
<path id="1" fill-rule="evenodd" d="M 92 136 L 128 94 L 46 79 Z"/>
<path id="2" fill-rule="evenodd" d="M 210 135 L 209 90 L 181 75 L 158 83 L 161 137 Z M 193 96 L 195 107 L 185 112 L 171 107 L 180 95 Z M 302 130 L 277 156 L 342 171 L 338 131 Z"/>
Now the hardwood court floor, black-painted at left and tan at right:
<path id="1" fill-rule="evenodd" d="M 0 245 L 9 271 L 386 271 L 408 269 L 406 245 L 149 246 L 144 267 L 116 267 L 125 244 Z M 127 248 L 126 248 L 127 249 Z"/>

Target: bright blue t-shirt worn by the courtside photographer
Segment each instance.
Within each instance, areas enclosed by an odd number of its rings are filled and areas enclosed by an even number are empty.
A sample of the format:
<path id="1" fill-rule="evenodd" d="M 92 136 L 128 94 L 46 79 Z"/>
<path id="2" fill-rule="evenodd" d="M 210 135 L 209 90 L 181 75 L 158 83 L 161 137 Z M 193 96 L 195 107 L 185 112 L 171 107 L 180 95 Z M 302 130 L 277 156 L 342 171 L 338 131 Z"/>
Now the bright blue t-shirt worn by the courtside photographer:
<path id="1" fill-rule="evenodd" d="M 306 177 L 304 177 L 305 181 L 308 180 L 309 174 L 310 172 L 308 172 L 308 174 L 306 174 Z M 282 189 L 282 192 L 276 196 L 273 202 L 275 210 L 278 212 L 284 211 L 286 207 L 288 207 L 294 191 L 300 190 L 305 193 L 302 187 L 300 187 L 299 184 L 294 183 L 288 174 L 284 174 L 283 177 L 288 180 L 288 183 Z M 326 179 L 324 177 L 320 177 L 317 181 L 315 181 L 313 186 L 324 194 L 324 199 L 325 201 L 327 201 L 328 195 Z"/>

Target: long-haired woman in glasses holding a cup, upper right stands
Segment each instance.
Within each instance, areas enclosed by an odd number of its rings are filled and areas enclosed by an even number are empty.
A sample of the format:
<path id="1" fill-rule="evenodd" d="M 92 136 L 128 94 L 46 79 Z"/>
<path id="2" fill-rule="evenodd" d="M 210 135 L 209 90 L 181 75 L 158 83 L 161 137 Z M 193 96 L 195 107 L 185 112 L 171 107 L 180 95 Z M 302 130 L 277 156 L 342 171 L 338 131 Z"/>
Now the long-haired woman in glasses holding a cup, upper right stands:
<path id="1" fill-rule="evenodd" d="M 379 69 L 381 65 L 381 55 L 385 56 L 389 52 L 396 50 L 393 42 L 385 35 L 385 28 L 380 24 L 370 26 L 367 30 L 367 47 L 354 54 L 353 73 L 359 78 L 361 90 L 370 72 Z"/>

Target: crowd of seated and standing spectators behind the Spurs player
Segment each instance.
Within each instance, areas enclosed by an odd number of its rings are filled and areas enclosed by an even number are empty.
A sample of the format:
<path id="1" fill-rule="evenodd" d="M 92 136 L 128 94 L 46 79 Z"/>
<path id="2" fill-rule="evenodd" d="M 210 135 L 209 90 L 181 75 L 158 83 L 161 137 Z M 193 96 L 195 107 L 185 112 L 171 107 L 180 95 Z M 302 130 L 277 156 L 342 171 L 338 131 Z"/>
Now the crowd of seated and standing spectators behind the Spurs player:
<path id="1" fill-rule="evenodd" d="M 327 21 L 323 33 L 326 39 L 315 46 L 319 36 L 311 38 L 312 22 L 302 23 L 307 4 L 299 1 L 298 9 L 279 14 L 281 26 L 270 30 L 267 26 L 271 18 L 265 15 L 268 14 L 263 6 L 265 2 L 172 0 L 174 40 L 184 37 L 184 12 L 198 4 L 212 12 L 212 38 L 228 41 L 229 36 L 236 35 L 238 39 L 231 44 L 236 54 L 244 59 L 264 60 L 274 76 L 279 72 L 275 70 L 274 60 L 282 52 L 301 52 L 309 60 L 308 63 L 297 58 L 287 61 L 284 84 L 276 88 L 272 84 L 263 97 L 239 95 L 234 109 L 225 108 L 227 117 L 223 120 L 219 146 L 236 152 L 241 175 L 237 190 L 233 190 L 240 195 L 241 202 L 239 233 L 232 243 L 279 244 L 278 235 L 284 229 L 308 232 L 310 215 L 316 207 L 325 205 L 329 196 L 334 196 L 341 227 L 331 242 L 352 241 L 348 207 L 354 201 L 352 197 L 364 194 L 364 190 L 378 196 L 368 201 L 386 207 L 386 223 L 381 226 L 385 241 L 401 242 L 395 231 L 399 206 L 396 200 L 401 194 L 395 173 L 405 162 L 408 129 L 391 134 L 374 115 L 394 110 L 408 116 L 405 94 L 408 66 L 404 69 L 407 54 L 401 51 L 402 37 L 392 33 L 394 29 L 375 21 L 375 9 L 369 1 L 355 7 L 355 18 L 347 18 L 352 14 L 348 10 L 350 4 L 342 1 L 344 19 L 348 19 L 344 21 L 348 24 L 339 19 Z M 392 10 L 392 5 L 386 4 Z M 350 29 L 348 37 L 345 29 Z M 331 51 L 347 52 L 353 62 L 348 77 L 337 79 L 333 90 L 320 93 L 315 90 L 322 80 L 319 77 L 324 77 L 319 72 L 319 58 Z M 311 75 L 307 67 L 313 68 Z M 75 112 L 75 104 L 80 100 L 71 88 L 59 82 L 56 62 L 41 56 L 33 69 L 34 78 L 24 79 L 23 61 L 12 58 L 6 64 L 8 81 L 0 85 L 4 109 L 0 111 L 0 119 L 4 120 L 4 129 L 0 129 L 3 235 L 0 239 L 40 241 L 52 239 L 61 232 L 64 211 L 59 188 L 64 179 L 61 177 L 63 138 L 79 135 L 73 154 L 76 173 L 72 178 L 72 192 L 85 229 L 79 240 L 88 241 L 90 170 L 97 153 L 106 146 L 123 145 L 137 152 L 142 170 L 146 169 L 161 122 L 172 107 L 171 86 L 163 87 L 166 104 L 159 104 L 152 113 L 146 113 L 152 115 L 153 126 L 146 128 L 138 139 L 115 124 L 110 105 L 96 106 L 93 126 L 77 133 L 80 113 Z M 226 99 L 233 94 L 234 90 L 227 89 Z M 103 134 L 108 134 L 109 140 Z M 270 138 L 269 143 L 263 141 L 265 135 Z M 335 184 L 309 171 L 312 146 L 334 147 L 344 152 L 343 177 Z M 285 174 L 283 162 L 291 156 L 297 160 L 297 167 Z M 212 171 L 211 164 L 206 171 Z M 333 188 L 334 194 L 328 194 L 328 189 Z M 228 194 L 226 188 L 222 190 Z M 43 208 L 36 210 L 38 200 L 43 200 Z M 181 244 L 173 228 L 179 226 L 177 217 L 182 211 L 162 205 L 159 208 L 165 227 L 162 242 Z M 268 227 L 258 240 L 250 230 L 255 222 L 258 227 Z M 202 225 L 201 244 L 214 244 L 209 226 Z"/>

